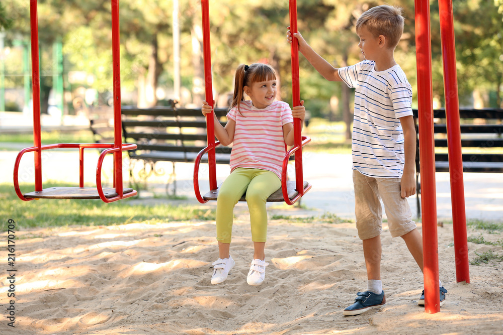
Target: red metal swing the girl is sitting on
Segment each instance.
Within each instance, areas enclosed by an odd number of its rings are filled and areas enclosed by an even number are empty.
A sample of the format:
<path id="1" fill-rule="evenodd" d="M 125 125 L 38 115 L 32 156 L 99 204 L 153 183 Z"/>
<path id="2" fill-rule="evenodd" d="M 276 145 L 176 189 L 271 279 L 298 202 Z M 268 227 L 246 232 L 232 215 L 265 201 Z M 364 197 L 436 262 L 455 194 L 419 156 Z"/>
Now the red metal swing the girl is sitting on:
<path id="1" fill-rule="evenodd" d="M 205 79 L 205 93 L 206 101 L 208 103 L 213 103 L 213 93 L 212 93 L 212 76 L 211 76 L 211 49 L 210 49 L 210 24 L 209 24 L 209 6 L 208 0 L 201 0 L 202 8 L 202 19 L 203 19 L 203 55 L 204 55 L 204 79 Z M 292 32 L 297 32 L 297 2 L 296 0 L 289 1 L 290 9 L 290 30 Z M 296 41 L 296 39 L 295 39 Z M 292 43 L 291 45 L 291 57 L 292 57 L 292 95 L 293 95 L 293 105 L 300 105 L 300 86 L 299 86 L 299 46 L 298 43 Z M 212 104 L 213 107 L 213 104 Z M 201 150 L 194 163 L 194 191 L 196 193 L 196 198 L 201 203 L 205 203 L 209 200 L 216 200 L 218 196 L 218 187 L 216 182 L 216 170 L 215 170 L 215 147 L 220 144 L 220 142 L 215 142 L 215 132 L 214 132 L 214 121 L 212 115 L 208 115 L 206 118 L 207 124 L 207 138 L 208 146 Z M 267 201 L 284 201 L 289 205 L 294 204 L 299 200 L 309 189 L 311 185 L 304 181 L 302 172 L 302 147 L 309 143 L 311 139 L 306 136 L 301 135 L 302 125 L 301 120 L 294 118 L 293 121 L 294 128 L 294 146 L 288 152 L 286 152 L 283 159 L 282 175 L 281 175 L 281 189 L 274 192 L 269 196 Z M 204 154 L 208 154 L 208 171 L 209 171 L 209 186 L 210 191 L 204 196 L 201 196 L 199 191 L 199 164 L 201 158 Z M 287 175 L 287 167 L 290 156 L 295 154 L 295 181 L 289 181 Z M 245 201 L 244 197 L 241 197 L 239 201 Z"/>

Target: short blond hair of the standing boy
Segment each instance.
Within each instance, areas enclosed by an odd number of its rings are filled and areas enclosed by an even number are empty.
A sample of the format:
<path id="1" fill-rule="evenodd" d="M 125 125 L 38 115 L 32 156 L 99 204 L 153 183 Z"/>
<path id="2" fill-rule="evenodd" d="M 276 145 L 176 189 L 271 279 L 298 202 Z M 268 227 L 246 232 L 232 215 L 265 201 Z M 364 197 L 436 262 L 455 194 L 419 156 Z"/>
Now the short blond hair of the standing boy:
<path id="1" fill-rule="evenodd" d="M 356 31 L 366 27 L 374 36 L 384 35 L 389 42 L 389 48 L 395 48 L 403 33 L 402 9 L 381 5 L 363 13 L 356 22 Z"/>

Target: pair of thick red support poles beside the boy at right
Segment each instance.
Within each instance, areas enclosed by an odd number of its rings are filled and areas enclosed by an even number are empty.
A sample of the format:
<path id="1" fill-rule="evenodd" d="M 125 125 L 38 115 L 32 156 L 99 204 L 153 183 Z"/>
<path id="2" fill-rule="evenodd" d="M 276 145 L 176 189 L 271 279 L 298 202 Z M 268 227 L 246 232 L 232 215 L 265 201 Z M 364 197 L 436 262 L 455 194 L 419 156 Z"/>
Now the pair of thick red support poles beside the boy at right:
<path id="1" fill-rule="evenodd" d="M 442 35 L 442 60 L 444 64 L 456 281 L 469 283 L 470 274 L 468 269 L 468 243 L 466 237 L 452 0 L 439 0 L 439 11 L 440 31 Z M 437 313 L 440 311 L 437 197 L 435 189 L 430 3 L 427 1 L 415 0 L 415 30 L 419 138 L 421 147 L 421 188 L 424 195 L 422 211 L 425 311 Z"/>

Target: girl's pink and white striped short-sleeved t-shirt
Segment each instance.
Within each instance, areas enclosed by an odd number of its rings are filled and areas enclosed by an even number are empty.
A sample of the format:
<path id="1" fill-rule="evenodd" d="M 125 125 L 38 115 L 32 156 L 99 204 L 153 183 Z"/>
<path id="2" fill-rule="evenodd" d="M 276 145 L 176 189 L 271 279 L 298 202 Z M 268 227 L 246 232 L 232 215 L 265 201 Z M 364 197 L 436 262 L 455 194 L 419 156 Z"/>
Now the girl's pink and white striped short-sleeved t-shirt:
<path id="1" fill-rule="evenodd" d="M 241 101 L 241 113 L 237 106 L 231 108 L 227 118 L 236 122 L 230 170 L 256 168 L 276 173 L 281 179 L 285 156 L 283 126 L 293 122 L 288 103 L 274 101 L 259 109 L 250 100 Z"/>

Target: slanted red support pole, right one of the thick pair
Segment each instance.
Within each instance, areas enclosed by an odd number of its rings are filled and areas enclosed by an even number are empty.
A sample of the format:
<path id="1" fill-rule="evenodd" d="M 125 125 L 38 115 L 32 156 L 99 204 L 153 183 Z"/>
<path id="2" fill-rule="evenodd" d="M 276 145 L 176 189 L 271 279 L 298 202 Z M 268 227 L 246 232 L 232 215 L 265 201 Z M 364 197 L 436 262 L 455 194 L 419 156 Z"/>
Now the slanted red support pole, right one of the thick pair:
<path id="1" fill-rule="evenodd" d="M 456 281 L 470 282 L 452 0 L 439 0 Z"/>

